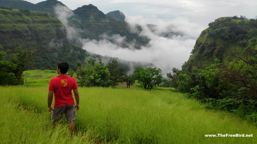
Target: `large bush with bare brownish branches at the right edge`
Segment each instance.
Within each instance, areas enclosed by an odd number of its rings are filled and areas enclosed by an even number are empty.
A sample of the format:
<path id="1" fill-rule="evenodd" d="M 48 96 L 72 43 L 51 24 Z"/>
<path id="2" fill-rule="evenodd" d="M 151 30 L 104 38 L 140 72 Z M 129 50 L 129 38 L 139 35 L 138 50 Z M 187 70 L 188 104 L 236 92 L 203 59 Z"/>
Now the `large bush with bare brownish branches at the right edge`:
<path id="1" fill-rule="evenodd" d="M 242 98 L 257 100 L 257 45 L 242 56 L 238 56 L 236 51 L 230 52 L 236 59 L 224 60 L 218 67 L 217 76 L 234 83 Z"/>

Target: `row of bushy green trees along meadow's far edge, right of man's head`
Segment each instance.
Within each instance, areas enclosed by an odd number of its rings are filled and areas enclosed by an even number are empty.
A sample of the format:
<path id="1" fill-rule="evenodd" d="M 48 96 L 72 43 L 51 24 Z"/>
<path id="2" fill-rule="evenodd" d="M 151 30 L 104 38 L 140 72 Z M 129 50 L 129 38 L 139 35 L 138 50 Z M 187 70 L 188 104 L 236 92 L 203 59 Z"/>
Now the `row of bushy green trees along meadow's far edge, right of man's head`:
<path id="1" fill-rule="evenodd" d="M 95 64 L 95 59 L 87 59 L 86 65 L 77 63 L 77 70 L 69 70 L 67 75 L 74 77 L 80 87 L 116 87 L 120 83 L 126 83 L 127 88 L 135 84 L 135 80 L 142 85 L 142 88 L 151 90 L 159 86 L 163 81 L 160 68 L 136 67 L 133 74 L 128 75 L 124 67 L 118 66 L 117 60 L 111 58 L 108 65 L 102 63 L 102 58 Z"/>

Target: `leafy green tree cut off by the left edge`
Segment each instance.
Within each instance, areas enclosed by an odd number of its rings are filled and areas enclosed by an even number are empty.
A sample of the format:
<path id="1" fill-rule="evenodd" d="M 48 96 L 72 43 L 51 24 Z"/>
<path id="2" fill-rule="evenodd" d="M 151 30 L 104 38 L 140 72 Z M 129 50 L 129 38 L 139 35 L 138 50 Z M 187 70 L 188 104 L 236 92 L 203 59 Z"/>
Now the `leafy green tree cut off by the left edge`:
<path id="1" fill-rule="evenodd" d="M 3 47 L 0 45 L 0 50 Z M 0 52 L 0 85 L 14 85 L 16 80 L 12 71 L 16 68 L 16 64 L 7 61 L 5 58 L 6 53 L 10 52 Z"/>

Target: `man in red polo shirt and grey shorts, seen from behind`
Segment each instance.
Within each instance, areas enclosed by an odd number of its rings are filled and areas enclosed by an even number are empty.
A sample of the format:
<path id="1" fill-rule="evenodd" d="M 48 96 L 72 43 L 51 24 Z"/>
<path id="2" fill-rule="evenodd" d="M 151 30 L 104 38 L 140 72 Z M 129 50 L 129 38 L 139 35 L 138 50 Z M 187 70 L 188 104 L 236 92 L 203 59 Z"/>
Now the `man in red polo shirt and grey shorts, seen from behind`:
<path id="1" fill-rule="evenodd" d="M 69 70 L 69 64 L 67 62 L 60 62 L 57 64 L 57 73 L 59 74 L 56 78 L 52 78 L 49 83 L 48 91 L 48 112 L 52 114 L 51 120 L 53 126 L 63 117 L 69 122 L 69 129 L 71 135 L 75 130 L 74 120 L 76 118 L 76 111 L 79 110 L 79 93 L 76 80 L 66 75 Z M 72 96 L 72 92 L 76 99 L 76 105 Z M 54 94 L 54 104 L 51 107 Z M 75 108 L 76 111 L 75 111 Z M 51 112 L 52 110 L 52 112 Z"/>

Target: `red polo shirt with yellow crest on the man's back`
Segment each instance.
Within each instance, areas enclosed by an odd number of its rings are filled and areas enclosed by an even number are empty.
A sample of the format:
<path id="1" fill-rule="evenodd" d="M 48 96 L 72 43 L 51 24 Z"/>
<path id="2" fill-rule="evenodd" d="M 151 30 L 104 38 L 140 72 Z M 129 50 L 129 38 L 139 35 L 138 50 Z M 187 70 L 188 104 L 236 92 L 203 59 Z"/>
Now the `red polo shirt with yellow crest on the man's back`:
<path id="1" fill-rule="evenodd" d="M 71 90 L 78 89 L 76 80 L 67 75 L 58 75 L 52 78 L 49 83 L 49 91 L 54 91 L 54 104 L 55 107 L 64 105 L 74 105 L 74 99 Z"/>

